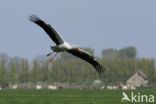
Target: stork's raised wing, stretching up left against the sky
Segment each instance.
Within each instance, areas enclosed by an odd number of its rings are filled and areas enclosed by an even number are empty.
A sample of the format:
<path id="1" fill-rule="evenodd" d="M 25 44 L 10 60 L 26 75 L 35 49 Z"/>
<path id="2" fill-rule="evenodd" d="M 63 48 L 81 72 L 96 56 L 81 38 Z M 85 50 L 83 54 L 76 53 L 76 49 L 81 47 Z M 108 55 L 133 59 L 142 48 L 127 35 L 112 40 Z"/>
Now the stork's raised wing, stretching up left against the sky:
<path id="1" fill-rule="evenodd" d="M 46 24 L 43 20 L 41 20 L 38 16 L 36 15 L 31 15 L 29 17 L 29 20 L 31 22 L 34 22 L 35 24 L 39 25 L 44 29 L 44 31 L 49 35 L 49 37 L 57 44 L 62 44 L 64 41 L 63 39 L 59 36 L 59 34 L 54 30 L 52 26 L 49 24 Z"/>

